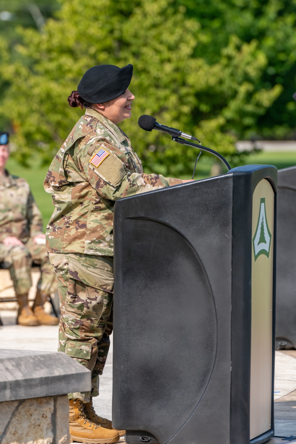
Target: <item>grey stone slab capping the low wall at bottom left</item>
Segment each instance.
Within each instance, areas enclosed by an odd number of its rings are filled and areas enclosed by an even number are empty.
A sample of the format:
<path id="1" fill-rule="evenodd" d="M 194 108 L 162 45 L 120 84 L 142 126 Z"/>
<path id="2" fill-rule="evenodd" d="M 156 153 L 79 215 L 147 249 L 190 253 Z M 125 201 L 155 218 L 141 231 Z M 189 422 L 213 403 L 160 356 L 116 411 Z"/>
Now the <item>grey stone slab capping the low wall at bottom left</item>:
<path id="1" fill-rule="evenodd" d="M 0 401 L 91 390 L 91 372 L 65 353 L 0 349 Z"/>

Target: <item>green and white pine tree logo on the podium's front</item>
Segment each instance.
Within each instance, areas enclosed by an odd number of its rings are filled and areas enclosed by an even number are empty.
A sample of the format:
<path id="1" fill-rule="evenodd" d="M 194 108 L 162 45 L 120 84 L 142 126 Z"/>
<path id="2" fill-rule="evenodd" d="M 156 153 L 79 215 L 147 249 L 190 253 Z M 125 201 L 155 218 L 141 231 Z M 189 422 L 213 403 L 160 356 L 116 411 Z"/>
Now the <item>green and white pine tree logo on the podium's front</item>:
<path id="1" fill-rule="evenodd" d="M 271 244 L 271 233 L 269 231 L 265 211 L 265 198 L 260 199 L 259 217 L 257 228 L 253 237 L 253 248 L 255 261 L 260 254 L 265 254 L 269 258 Z"/>

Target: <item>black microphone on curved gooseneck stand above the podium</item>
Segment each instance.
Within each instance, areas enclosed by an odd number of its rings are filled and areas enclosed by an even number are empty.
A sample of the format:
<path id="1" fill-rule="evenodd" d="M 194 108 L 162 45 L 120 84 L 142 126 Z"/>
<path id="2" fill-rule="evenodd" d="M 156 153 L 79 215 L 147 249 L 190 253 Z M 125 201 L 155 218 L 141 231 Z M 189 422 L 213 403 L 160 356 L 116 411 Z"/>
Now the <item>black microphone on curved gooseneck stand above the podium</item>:
<path id="1" fill-rule="evenodd" d="M 214 156 L 216 156 L 218 159 L 220 159 L 221 162 L 224 163 L 224 165 L 226 166 L 228 171 L 231 170 L 231 167 L 230 167 L 229 163 L 227 162 L 227 160 L 224 159 L 224 157 L 221 156 L 221 154 L 217 153 L 217 151 L 214 151 L 214 150 L 211 150 L 211 148 L 207 148 L 207 147 L 202 146 L 198 139 L 196 139 L 195 137 L 193 137 L 189 134 L 183 133 L 182 131 L 177 130 L 176 128 L 166 127 L 165 125 L 161 125 L 160 123 L 157 123 L 155 117 L 152 117 L 152 115 L 147 115 L 147 114 L 141 115 L 138 119 L 138 125 L 140 128 L 142 128 L 142 130 L 163 131 L 165 133 L 170 134 L 172 136 L 172 140 L 174 140 L 174 142 L 181 143 L 182 145 L 187 145 L 189 147 L 199 148 L 202 151 L 207 151 L 208 153 L 211 153 Z M 187 139 L 197 140 L 197 142 L 199 142 L 200 145 L 197 145 L 196 143 L 188 142 L 185 139 L 181 139 L 180 136 L 186 137 Z M 196 166 L 196 163 L 195 163 L 195 166 Z M 195 167 L 194 167 L 194 171 L 195 171 Z M 193 175 L 194 175 L 194 173 L 193 173 Z"/>

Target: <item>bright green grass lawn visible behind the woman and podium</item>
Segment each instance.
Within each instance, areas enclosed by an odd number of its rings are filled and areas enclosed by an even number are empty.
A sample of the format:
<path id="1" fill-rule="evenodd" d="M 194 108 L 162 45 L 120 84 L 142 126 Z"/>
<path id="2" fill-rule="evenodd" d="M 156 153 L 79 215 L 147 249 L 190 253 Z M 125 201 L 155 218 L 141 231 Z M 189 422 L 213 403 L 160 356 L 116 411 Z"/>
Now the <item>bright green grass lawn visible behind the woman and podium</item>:
<path id="1" fill-rule="evenodd" d="M 250 155 L 247 159 L 247 164 L 268 164 L 274 165 L 278 169 L 287 168 L 288 166 L 296 165 L 296 151 L 264 151 L 255 155 Z M 213 158 L 208 156 L 201 156 L 197 163 L 197 170 L 195 174 L 196 179 L 209 177 L 209 172 L 213 164 Z M 51 217 L 53 206 L 51 203 L 51 195 L 47 194 L 43 189 L 43 180 L 46 176 L 48 166 L 40 167 L 38 161 L 32 162 L 30 168 L 24 168 L 15 162 L 14 159 L 9 159 L 7 164 L 8 170 L 12 174 L 24 177 L 31 186 L 32 193 L 43 215 L 44 228 Z M 191 177 L 183 176 L 182 179 L 189 179 Z"/>

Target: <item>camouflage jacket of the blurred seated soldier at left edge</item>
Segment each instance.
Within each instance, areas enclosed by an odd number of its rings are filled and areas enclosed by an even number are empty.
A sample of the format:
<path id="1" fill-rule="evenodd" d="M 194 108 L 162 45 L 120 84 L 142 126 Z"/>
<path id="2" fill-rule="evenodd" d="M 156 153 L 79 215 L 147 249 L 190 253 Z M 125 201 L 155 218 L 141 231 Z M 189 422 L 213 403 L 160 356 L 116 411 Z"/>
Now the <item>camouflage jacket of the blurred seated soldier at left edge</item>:
<path id="1" fill-rule="evenodd" d="M 10 174 L 0 177 L 0 242 L 15 236 L 22 242 L 42 233 L 42 216 L 28 182 Z"/>

